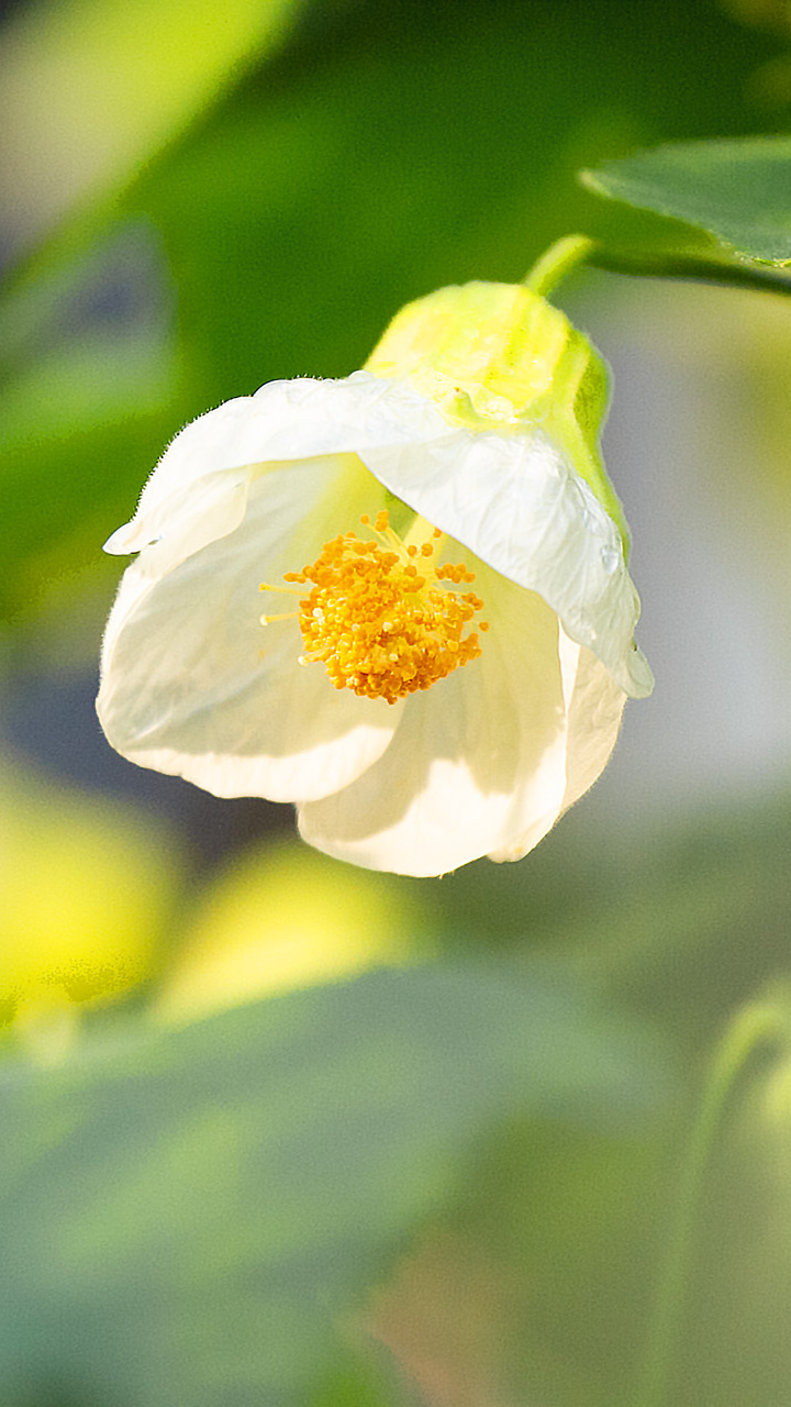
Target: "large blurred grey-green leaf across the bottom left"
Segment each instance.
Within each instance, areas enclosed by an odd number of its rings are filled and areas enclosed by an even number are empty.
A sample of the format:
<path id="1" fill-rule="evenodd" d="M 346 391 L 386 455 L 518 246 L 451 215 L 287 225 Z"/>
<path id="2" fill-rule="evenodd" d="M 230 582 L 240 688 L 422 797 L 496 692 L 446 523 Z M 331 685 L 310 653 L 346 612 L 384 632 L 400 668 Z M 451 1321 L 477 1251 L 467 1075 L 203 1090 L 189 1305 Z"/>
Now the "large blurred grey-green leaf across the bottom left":
<path id="1" fill-rule="evenodd" d="M 4 1401 L 304 1407 L 474 1138 L 519 1112 L 619 1127 L 666 1088 L 580 993 L 483 965 L 6 1065 Z"/>

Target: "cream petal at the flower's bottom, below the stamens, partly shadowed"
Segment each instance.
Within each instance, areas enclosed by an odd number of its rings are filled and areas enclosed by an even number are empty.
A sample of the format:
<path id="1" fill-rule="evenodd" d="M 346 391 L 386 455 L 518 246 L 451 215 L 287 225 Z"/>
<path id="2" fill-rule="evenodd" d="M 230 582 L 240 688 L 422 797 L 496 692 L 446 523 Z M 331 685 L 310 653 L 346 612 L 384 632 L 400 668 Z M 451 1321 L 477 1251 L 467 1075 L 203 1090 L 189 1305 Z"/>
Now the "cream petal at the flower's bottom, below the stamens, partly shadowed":
<path id="1" fill-rule="evenodd" d="M 557 819 L 567 785 L 557 616 L 470 567 L 491 623 L 481 657 L 410 698 L 393 743 L 356 782 L 300 808 L 301 834 L 318 850 L 436 875 L 514 840 L 536 844 Z"/>

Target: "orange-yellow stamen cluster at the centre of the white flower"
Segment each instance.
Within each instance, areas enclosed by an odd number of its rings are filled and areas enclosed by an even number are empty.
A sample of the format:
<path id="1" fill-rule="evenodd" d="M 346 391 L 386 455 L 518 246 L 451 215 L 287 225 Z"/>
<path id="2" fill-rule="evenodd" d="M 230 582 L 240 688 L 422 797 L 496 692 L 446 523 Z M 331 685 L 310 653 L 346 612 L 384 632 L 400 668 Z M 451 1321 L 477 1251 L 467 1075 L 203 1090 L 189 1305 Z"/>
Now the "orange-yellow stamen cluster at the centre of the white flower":
<path id="1" fill-rule="evenodd" d="M 367 514 L 360 523 L 370 526 Z M 439 585 L 476 580 L 464 563 L 434 566 L 439 529 L 429 542 L 407 546 L 383 511 L 373 533 L 367 542 L 355 532 L 335 537 L 311 566 L 289 571 L 283 580 L 311 585 L 297 612 L 305 647 L 300 664 L 319 661 L 336 689 L 396 704 L 479 657 L 477 635 L 464 630 L 483 601 L 474 591 Z M 294 585 L 265 582 L 262 590 L 294 591 Z M 262 619 L 266 625 L 281 618 Z M 486 632 L 488 623 L 479 622 L 479 629 Z"/>

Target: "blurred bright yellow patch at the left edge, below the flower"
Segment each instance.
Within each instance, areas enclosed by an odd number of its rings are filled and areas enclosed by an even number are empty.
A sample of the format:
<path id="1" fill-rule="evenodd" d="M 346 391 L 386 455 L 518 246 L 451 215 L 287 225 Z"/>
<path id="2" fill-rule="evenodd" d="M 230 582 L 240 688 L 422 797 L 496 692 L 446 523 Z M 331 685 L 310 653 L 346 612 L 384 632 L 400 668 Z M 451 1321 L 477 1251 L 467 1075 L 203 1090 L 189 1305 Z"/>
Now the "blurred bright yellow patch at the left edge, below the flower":
<path id="1" fill-rule="evenodd" d="M 0 767 L 0 1024 L 160 969 L 179 853 L 159 817 Z"/>

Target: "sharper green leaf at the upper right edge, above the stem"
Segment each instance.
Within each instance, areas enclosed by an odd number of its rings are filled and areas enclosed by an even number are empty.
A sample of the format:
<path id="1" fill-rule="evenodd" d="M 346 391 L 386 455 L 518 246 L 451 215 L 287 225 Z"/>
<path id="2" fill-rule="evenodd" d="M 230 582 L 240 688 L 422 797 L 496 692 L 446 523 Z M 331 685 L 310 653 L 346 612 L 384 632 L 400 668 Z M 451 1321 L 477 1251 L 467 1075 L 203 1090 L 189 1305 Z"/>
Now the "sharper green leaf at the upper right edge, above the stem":
<path id="1" fill-rule="evenodd" d="M 691 227 L 685 239 L 681 232 L 690 252 L 701 252 L 702 232 L 726 256 L 791 265 L 788 136 L 657 146 L 583 172 L 581 180 L 598 196 Z"/>

